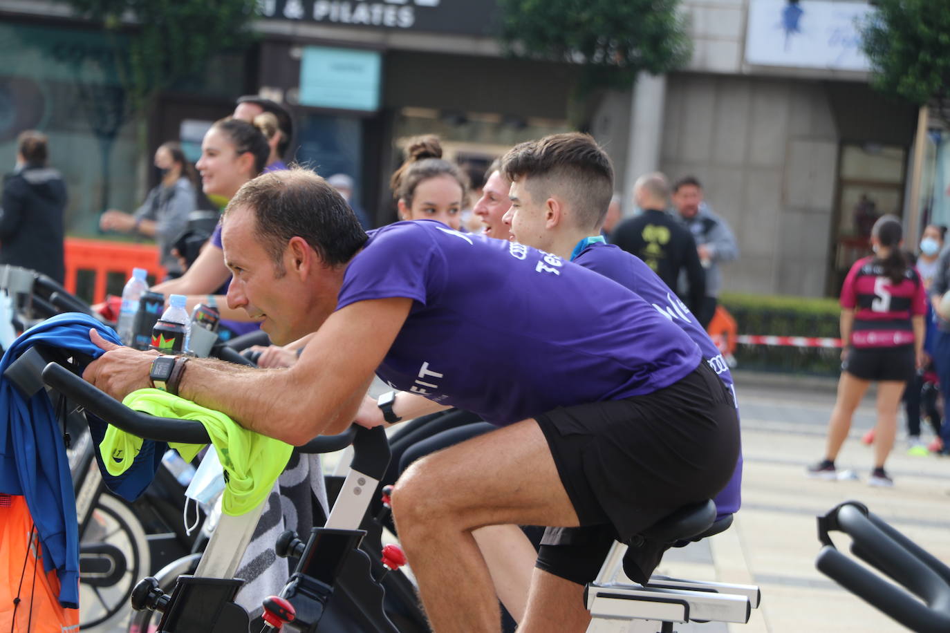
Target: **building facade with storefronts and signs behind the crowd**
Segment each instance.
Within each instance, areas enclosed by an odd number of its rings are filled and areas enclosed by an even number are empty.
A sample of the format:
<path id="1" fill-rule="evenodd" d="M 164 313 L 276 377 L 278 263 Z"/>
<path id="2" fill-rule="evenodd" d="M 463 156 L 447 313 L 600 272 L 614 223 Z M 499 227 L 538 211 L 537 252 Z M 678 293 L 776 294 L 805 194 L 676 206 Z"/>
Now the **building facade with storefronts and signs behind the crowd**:
<path id="1" fill-rule="evenodd" d="M 698 177 L 739 241 L 725 289 L 767 294 L 836 295 L 867 251 L 871 218 L 904 214 L 917 108 L 867 86 L 855 27 L 864 0 L 684 0 L 690 65 L 584 100 L 576 67 L 504 56 L 493 0 L 259 8 L 256 47 L 218 60 L 206 82 L 161 95 L 149 152 L 180 139 L 197 158 L 207 126 L 238 95 L 259 92 L 294 112 L 293 158 L 352 176 L 356 201 L 383 224 L 394 217 L 390 173 L 413 135 L 439 134 L 447 158 L 484 168 L 516 142 L 580 127 L 614 158 L 628 214 L 639 175 Z M 15 134 L 4 129 L 46 126 L 54 160 L 69 157 L 58 164 L 75 194 L 69 230 L 89 233 L 105 203 L 135 204 L 147 170 L 130 165 L 150 153 L 127 121 L 109 120 L 115 79 L 87 61 L 95 31 L 57 2 L 0 0 L 0 16 L 10 35 L 0 37 L 0 96 L 15 112 L 0 116 L 0 154 L 12 157 Z"/>

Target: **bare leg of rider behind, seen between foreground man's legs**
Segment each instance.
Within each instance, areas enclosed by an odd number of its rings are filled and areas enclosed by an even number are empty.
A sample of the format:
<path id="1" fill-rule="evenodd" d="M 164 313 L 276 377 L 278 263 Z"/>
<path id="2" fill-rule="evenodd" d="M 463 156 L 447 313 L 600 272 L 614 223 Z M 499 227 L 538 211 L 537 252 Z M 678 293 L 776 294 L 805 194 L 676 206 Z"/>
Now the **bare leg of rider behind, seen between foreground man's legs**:
<path id="1" fill-rule="evenodd" d="M 520 623 L 538 552 L 518 526 L 486 526 L 472 532 L 504 608 Z"/>

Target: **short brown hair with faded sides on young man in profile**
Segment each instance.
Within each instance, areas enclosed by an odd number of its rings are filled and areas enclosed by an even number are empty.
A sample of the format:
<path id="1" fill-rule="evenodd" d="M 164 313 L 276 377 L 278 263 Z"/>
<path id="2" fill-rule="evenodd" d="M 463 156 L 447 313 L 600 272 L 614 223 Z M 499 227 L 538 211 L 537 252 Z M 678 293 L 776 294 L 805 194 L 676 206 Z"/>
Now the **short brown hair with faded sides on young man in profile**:
<path id="1" fill-rule="evenodd" d="M 575 221 L 590 231 L 603 224 L 614 195 L 610 157 L 594 137 L 580 132 L 553 134 L 515 145 L 502 159 L 502 172 L 512 182 L 531 178 L 532 195 L 561 188 L 574 209 Z"/>

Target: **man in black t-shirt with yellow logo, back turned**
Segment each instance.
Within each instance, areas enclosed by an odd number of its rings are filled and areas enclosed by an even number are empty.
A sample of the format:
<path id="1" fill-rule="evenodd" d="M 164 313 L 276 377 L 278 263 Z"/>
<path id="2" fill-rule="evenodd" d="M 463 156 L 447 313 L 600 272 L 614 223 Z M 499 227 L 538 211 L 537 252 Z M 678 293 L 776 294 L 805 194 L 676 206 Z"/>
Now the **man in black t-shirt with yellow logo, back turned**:
<path id="1" fill-rule="evenodd" d="M 634 199 L 641 214 L 620 223 L 612 242 L 642 259 L 679 298 L 698 314 L 706 295 L 706 271 L 699 261 L 696 242 L 676 218 L 668 214 L 670 186 L 662 174 L 637 178 Z M 679 271 L 686 269 L 689 289 L 678 287 Z"/>

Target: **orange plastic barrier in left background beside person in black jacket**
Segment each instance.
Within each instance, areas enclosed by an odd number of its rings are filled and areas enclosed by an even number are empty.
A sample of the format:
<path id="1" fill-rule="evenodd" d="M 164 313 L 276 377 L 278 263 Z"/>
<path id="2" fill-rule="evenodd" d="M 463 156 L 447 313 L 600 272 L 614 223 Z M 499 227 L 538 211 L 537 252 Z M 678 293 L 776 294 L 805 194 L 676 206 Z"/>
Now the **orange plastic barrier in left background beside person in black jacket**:
<path id="1" fill-rule="evenodd" d="M 156 281 L 165 277 L 159 264 L 159 248 L 154 244 L 131 244 L 96 239 L 66 237 L 66 290 L 76 293 L 76 278 L 80 270 L 90 270 L 95 275 L 92 287 L 92 303 L 105 301 L 105 282 L 110 272 L 122 273 L 123 279 L 132 276 L 132 269 L 148 270 Z"/>

